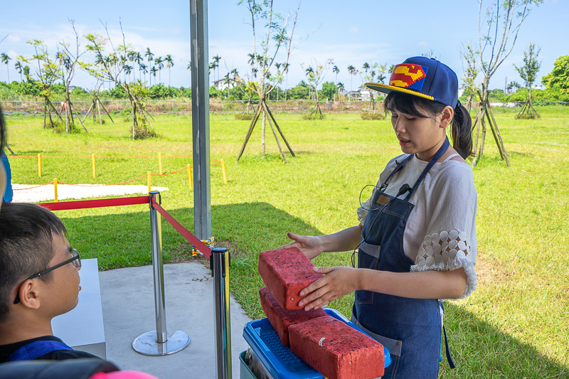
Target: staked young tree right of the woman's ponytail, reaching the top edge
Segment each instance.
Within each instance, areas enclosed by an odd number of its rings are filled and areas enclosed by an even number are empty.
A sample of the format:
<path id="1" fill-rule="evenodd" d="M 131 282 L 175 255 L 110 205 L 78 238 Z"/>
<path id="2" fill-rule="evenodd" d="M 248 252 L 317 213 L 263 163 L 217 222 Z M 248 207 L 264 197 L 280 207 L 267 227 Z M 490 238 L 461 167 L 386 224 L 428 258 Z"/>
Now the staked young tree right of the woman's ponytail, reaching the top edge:
<path id="1" fill-rule="evenodd" d="M 473 125 L 473 129 L 476 129 L 474 156 L 472 157 L 473 167 L 476 166 L 477 159 L 484 154 L 486 120 L 490 124 L 501 159 L 506 161 L 508 167 L 510 166 L 500 129 L 491 111 L 488 86 L 490 78 L 496 73 L 499 65 L 514 49 L 521 24 L 531 13 L 533 7 L 542 2 L 543 0 L 499 0 L 497 3 L 484 4 L 486 0 L 479 0 L 478 51 L 484 80 L 482 80 L 482 89 L 478 91 L 480 97 L 479 117 Z M 482 13 L 483 9 L 486 10 L 484 14 Z M 481 126 L 482 134 L 480 133 Z"/>

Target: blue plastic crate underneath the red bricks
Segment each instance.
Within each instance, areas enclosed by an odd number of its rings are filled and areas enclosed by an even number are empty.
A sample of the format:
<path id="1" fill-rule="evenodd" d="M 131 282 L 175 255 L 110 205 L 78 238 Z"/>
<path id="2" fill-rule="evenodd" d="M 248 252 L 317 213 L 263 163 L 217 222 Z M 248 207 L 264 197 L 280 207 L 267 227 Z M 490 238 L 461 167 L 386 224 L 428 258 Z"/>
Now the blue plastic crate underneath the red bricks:
<path id="1" fill-rule="evenodd" d="M 324 310 L 329 316 L 334 317 L 334 319 L 344 321 L 353 329 L 364 333 L 356 324 L 346 319 L 346 317 L 339 311 L 336 311 L 336 309 L 326 308 Z M 275 329 L 272 328 L 269 319 L 248 322 L 243 329 L 243 337 L 272 378 L 324 379 L 321 373 L 295 356 L 288 346 L 282 345 L 279 335 Z M 383 346 L 383 349 L 385 367 L 387 367 L 391 363 L 391 356 L 385 346 Z"/>

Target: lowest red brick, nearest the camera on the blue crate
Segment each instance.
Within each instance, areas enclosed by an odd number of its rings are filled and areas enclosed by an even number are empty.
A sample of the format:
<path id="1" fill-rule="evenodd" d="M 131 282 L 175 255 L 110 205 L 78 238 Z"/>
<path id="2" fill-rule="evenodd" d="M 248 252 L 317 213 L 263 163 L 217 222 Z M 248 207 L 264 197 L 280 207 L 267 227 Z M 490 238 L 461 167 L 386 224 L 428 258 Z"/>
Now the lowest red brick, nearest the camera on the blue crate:
<path id="1" fill-rule="evenodd" d="M 290 350 L 328 379 L 383 375 L 383 346 L 330 316 L 289 327 Z"/>

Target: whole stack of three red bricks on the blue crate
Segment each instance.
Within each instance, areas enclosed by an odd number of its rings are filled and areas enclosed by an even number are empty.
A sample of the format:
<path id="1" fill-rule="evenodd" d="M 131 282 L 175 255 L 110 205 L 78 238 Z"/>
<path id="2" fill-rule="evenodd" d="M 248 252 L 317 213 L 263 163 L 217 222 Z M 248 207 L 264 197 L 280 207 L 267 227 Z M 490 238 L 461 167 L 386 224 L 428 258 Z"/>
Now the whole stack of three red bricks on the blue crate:
<path id="1" fill-rule="evenodd" d="M 299 292 L 323 277 L 300 250 L 262 252 L 259 273 L 261 306 L 283 345 L 329 379 L 378 378 L 383 375 L 383 346 L 336 320 L 322 309 L 304 311 Z"/>

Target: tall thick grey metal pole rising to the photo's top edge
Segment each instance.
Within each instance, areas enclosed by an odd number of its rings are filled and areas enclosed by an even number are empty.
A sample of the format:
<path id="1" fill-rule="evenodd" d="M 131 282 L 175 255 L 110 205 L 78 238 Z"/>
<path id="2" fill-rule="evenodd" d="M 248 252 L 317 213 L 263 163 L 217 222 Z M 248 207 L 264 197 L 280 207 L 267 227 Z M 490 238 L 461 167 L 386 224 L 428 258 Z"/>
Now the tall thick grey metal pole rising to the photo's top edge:
<path id="1" fill-rule="evenodd" d="M 208 1 L 190 0 L 193 234 L 211 237 Z"/>

